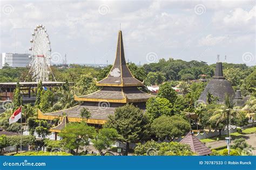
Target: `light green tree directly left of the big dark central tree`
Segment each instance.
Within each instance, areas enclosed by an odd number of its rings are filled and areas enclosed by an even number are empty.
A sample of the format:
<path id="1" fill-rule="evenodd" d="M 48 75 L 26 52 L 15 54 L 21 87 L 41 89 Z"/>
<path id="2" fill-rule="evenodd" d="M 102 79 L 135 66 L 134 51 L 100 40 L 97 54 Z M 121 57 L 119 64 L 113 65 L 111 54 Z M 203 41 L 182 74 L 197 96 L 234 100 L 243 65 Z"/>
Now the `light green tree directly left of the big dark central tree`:
<path id="1" fill-rule="evenodd" d="M 117 138 L 118 133 L 116 129 L 103 128 L 96 133 L 92 143 L 100 153 L 102 150 L 106 150 L 106 148 L 111 147 L 116 142 Z"/>

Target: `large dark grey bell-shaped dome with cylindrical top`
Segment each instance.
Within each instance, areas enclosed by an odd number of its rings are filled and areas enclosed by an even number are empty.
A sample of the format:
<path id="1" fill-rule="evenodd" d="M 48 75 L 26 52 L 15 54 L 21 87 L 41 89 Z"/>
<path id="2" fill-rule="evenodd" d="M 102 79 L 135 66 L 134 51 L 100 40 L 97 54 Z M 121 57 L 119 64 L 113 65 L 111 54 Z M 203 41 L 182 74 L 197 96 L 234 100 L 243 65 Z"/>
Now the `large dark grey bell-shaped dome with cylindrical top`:
<path id="1" fill-rule="evenodd" d="M 201 93 L 199 100 L 207 103 L 207 93 L 208 91 L 214 96 L 218 97 L 218 104 L 223 104 L 225 102 L 225 95 L 228 94 L 232 99 L 234 98 L 234 90 L 231 83 L 227 81 L 223 76 L 222 63 L 216 63 L 215 75 L 213 79 L 210 80 L 205 87 L 203 93 Z"/>

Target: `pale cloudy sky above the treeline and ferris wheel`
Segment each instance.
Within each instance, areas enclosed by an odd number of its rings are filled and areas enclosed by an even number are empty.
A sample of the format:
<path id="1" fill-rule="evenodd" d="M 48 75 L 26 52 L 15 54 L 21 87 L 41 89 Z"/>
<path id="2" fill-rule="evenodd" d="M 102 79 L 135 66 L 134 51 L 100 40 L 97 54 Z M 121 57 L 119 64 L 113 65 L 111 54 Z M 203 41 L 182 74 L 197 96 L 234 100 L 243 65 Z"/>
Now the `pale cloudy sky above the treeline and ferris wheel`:
<path id="1" fill-rule="evenodd" d="M 112 63 L 119 23 L 126 60 L 255 65 L 255 1 L 0 1 L 0 52 L 29 52 L 43 24 L 54 62 Z"/>

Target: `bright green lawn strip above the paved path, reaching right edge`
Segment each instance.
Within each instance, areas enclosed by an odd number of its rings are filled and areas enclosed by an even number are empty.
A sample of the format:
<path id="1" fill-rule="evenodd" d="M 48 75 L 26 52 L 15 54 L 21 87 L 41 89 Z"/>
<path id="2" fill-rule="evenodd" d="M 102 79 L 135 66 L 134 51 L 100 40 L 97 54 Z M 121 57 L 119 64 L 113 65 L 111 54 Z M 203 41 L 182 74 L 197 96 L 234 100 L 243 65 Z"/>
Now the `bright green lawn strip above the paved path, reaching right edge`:
<path id="1" fill-rule="evenodd" d="M 231 133 L 231 136 L 235 138 L 235 137 L 244 136 L 245 134 L 251 134 L 251 133 L 256 133 L 256 127 L 242 130 L 242 133 L 240 132 Z M 200 139 L 200 141 L 203 143 L 210 143 L 213 141 L 217 141 L 217 138 L 219 138 L 219 140 L 224 140 L 225 137 L 228 137 L 228 135 L 221 135 L 221 137 L 215 136 L 212 138 Z"/>

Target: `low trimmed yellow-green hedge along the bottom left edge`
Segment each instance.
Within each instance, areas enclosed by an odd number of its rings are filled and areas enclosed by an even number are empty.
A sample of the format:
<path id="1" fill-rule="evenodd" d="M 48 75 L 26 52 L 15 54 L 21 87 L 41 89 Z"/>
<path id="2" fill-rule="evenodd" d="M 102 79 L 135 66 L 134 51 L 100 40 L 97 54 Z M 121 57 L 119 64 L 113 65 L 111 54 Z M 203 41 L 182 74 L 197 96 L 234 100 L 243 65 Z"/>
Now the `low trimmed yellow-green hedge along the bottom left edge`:
<path id="1" fill-rule="evenodd" d="M 15 156 L 53 156 L 53 155 L 58 155 L 58 156 L 70 156 L 72 154 L 66 153 L 66 152 L 44 152 L 44 151 L 39 151 L 39 152 L 24 152 L 24 153 L 17 153 Z"/>

